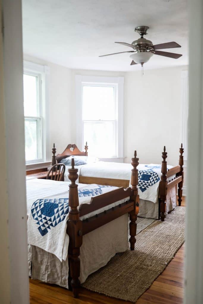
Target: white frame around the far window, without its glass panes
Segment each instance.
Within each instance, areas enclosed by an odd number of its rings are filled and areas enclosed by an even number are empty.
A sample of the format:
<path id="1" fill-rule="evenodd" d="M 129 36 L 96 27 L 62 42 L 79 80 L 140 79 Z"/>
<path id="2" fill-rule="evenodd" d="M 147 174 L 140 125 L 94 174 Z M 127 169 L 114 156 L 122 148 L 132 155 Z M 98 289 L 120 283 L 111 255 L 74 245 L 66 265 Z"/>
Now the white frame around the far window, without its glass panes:
<path id="1" fill-rule="evenodd" d="M 75 75 L 75 95 L 77 105 L 77 145 L 83 150 L 86 141 L 83 138 L 84 123 L 82 117 L 82 97 L 83 86 L 110 86 L 114 87 L 114 96 L 116 102 L 116 119 L 115 119 L 115 144 L 116 144 L 116 157 L 100 157 L 100 160 L 109 161 L 124 161 L 124 77 L 103 77 L 103 76 L 85 76 Z M 94 122 L 97 122 L 96 120 Z M 112 121 L 112 120 L 110 120 Z M 102 122 L 105 122 L 102 120 Z M 104 143 L 104 149 L 106 149 Z M 90 147 L 91 149 L 91 147 Z"/>

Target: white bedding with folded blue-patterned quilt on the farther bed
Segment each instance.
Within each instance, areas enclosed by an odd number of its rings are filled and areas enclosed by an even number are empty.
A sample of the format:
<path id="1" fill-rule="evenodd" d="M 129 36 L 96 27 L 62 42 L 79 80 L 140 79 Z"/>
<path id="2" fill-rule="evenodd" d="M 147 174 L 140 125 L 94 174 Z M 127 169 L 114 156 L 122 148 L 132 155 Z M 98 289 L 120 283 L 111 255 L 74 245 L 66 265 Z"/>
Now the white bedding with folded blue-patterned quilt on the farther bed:
<path id="1" fill-rule="evenodd" d="M 77 167 L 78 174 L 87 177 L 115 178 L 131 180 L 131 164 L 98 161 Z M 140 199 L 156 203 L 158 200 L 159 181 L 161 178 L 161 165 L 139 164 L 138 165 L 138 194 Z M 167 168 L 173 166 L 167 165 Z M 68 169 L 68 168 L 67 168 Z M 67 169 L 65 173 L 66 180 Z M 173 176 L 171 177 L 173 178 Z M 170 178 L 170 179 L 171 179 Z"/>

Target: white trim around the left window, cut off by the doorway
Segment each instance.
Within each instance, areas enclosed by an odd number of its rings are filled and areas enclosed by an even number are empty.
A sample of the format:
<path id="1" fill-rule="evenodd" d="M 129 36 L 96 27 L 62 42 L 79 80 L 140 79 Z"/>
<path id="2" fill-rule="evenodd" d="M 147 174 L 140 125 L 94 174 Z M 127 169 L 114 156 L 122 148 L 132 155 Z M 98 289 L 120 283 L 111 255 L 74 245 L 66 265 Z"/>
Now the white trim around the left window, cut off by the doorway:
<path id="1" fill-rule="evenodd" d="M 39 163 L 44 164 L 49 159 L 49 74 L 50 68 L 46 65 L 36 64 L 30 61 L 23 60 L 23 73 L 37 73 L 40 74 L 40 85 L 42 86 L 42 149 L 43 149 L 43 158 L 39 161 L 26 161 L 26 168 L 33 165 L 32 168 L 39 168 Z M 36 164 L 36 165 L 35 165 Z"/>

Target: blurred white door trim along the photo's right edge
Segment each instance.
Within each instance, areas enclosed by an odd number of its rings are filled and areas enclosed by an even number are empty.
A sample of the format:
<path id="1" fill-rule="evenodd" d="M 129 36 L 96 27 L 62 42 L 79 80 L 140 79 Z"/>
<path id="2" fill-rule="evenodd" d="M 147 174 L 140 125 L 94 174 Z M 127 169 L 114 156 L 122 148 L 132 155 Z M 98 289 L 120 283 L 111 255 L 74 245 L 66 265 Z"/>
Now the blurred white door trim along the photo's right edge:
<path id="1" fill-rule="evenodd" d="M 203 303 L 203 1 L 189 0 L 185 304 Z M 194 47 L 195 45 L 195 47 Z"/>

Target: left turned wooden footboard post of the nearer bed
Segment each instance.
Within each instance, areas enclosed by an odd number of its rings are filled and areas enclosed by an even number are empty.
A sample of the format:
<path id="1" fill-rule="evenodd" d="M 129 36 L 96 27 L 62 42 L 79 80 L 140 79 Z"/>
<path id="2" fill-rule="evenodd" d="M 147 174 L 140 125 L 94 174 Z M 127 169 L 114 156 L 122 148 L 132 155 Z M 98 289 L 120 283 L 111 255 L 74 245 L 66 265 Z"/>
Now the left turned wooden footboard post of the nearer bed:
<path id="1" fill-rule="evenodd" d="M 79 198 L 78 185 L 75 184 L 78 178 L 78 169 L 74 168 L 74 158 L 72 158 L 72 168 L 68 169 L 69 185 L 69 218 L 67 222 L 67 233 L 69 235 L 68 258 L 70 265 L 71 287 L 74 298 L 79 295 L 80 276 L 80 247 L 82 245 L 82 221 L 79 219 Z"/>

